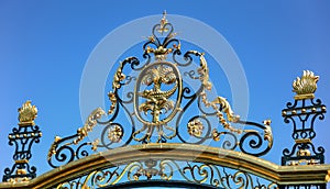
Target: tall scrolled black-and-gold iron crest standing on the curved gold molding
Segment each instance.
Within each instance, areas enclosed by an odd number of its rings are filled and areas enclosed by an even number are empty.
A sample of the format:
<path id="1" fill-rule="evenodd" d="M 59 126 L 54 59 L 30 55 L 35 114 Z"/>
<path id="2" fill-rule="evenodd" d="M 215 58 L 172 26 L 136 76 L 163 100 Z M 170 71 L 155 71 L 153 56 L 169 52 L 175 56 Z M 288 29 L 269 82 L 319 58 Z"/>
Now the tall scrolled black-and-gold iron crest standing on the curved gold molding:
<path id="1" fill-rule="evenodd" d="M 144 60 L 128 57 L 119 64 L 108 93 L 108 116 L 98 108 L 76 134 L 56 136 L 48 154 L 52 167 L 88 156 L 91 152 L 86 146 L 112 149 L 172 142 L 215 145 L 254 156 L 271 149 L 271 121 L 260 124 L 234 114 L 227 99 L 212 90 L 204 53 L 183 53 L 175 35 L 164 15 L 143 45 Z M 98 137 L 79 144 L 97 126 Z"/>

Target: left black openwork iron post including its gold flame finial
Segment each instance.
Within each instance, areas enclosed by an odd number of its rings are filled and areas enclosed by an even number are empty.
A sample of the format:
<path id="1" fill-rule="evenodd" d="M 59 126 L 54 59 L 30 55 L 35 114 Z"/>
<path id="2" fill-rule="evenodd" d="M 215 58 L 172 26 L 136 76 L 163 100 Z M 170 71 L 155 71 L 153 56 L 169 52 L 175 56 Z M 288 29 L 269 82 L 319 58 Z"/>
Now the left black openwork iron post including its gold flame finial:
<path id="1" fill-rule="evenodd" d="M 31 148 L 34 143 L 40 142 L 42 133 L 34 124 L 37 109 L 31 105 L 31 101 L 23 103 L 19 109 L 19 127 L 12 129 L 8 135 L 9 145 L 15 146 L 13 155 L 14 165 L 12 168 L 6 168 L 2 181 L 15 182 L 26 181 L 36 177 L 36 168 L 30 166 L 29 160 L 32 157 Z"/>

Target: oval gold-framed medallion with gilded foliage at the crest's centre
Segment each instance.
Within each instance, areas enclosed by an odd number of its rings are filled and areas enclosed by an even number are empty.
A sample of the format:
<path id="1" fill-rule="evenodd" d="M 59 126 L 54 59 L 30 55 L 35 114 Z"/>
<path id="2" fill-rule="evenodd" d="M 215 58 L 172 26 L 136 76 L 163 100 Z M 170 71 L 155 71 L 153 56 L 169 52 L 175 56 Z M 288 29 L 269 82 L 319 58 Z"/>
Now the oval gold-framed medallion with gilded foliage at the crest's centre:
<path id="1" fill-rule="evenodd" d="M 154 63 L 145 67 L 138 78 L 135 85 L 134 109 L 135 115 L 144 126 L 133 133 L 133 137 L 147 130 L 145 137 L 136 138 L 150 141 L 155 126 L 158 130 L 158 141 L 162 140 L 162 126 L 169 129 L 166 124 L 180 110 L 183 84 L 178 69 L 167 62 Z M 146 87 L 142 89 L 143 87 Z M 150 88 L 150 89 L 148 89 Z M 176 98 L 172 97 L 176 93 Z M 141 99 L 142 98 L 142 99 Z M 172 111 L 172 112 L 170 112 Z M 143 116 L 148 113 L 152 118 Z M 172 138 L 175 136 L 175 129 L 169 129 L 174 134 L 165 136 Z M 163 135 L 164 136 L 164 135 Z"/>

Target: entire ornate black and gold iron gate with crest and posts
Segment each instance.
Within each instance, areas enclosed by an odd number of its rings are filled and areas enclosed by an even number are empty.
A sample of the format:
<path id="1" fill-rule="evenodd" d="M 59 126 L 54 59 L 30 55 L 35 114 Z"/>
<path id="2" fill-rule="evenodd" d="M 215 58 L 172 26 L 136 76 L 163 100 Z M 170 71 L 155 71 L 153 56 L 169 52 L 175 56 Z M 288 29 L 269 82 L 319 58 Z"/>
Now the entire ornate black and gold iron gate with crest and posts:
<path id="1" fill-rule="evenodd" d="M 14 165 L 0 188 L 326 188 L 330 165 L 312 143 L 314 123 L 326 113 L 314 96 L 319 78 L 304 71 L 294 81 L 297 94 L 283 116 L 294 125 L 295 145 L 275 165 L 261 158 L 273 146 L 271 120 L 242 120 L 226 98 L 212 94 L 207 57 L 183 51 L 175 36 L 164 14 L 142 46 L 143 62 L 119 64 L 108 112 L 97 108 L 75 134 L 56 136 L 48 152 L 53 170 L 38 177 L 29 164 L 42 135 L 37 111 L 24 103 L 9 134 Z"/>

